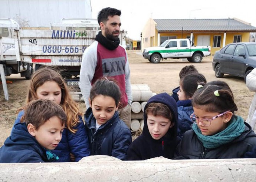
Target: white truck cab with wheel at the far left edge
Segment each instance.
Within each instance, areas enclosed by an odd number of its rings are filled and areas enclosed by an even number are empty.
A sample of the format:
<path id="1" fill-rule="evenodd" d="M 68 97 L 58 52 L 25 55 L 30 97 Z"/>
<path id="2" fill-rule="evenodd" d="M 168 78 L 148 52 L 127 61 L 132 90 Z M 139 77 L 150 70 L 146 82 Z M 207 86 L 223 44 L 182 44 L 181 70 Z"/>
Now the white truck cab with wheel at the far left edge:
<path id="1" fill-rule="evenodd" d="M 16 56 L 19 46 L 15 35 L 19 29 L 16 21 L 0 18 L 0 64 L 3 65 L 5 76 L 20 73 L 21 77 L 29 80 L 33 74 L 32 64 Z"/>

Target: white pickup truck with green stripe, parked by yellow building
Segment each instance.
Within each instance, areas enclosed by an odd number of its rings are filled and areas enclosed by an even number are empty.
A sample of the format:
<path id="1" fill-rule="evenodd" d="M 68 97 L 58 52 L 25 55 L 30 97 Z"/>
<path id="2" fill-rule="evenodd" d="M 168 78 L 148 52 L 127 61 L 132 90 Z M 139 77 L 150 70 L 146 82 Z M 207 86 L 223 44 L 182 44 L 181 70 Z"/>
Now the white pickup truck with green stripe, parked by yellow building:
<path id="1" fill-rule="evenodd" d="M 194 46 L 188 38 L 181 38 L 165 40 L 159 47 L 145 48 L 142 55 L 151 63 L 159 63 L 161 59 L 167 58 L 187 58 L 189 62 L 200 63 L 210 53 L 210 46 Z"/>

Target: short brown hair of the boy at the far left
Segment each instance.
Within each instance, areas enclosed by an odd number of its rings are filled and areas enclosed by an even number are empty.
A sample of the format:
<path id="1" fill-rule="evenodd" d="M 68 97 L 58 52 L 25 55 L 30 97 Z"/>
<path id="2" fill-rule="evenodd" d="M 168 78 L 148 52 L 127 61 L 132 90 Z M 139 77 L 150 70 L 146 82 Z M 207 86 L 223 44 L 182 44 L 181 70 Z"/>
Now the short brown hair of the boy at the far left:
<path id="1" fill-rule="evenodd" d="M 61 124 L 65 124 L 67 117 L 62 107 L 51 100 L 33 100 L 25 107 L 24 122 L 33 124 L 38 129 L 51 117 L 58 117 Z"/>

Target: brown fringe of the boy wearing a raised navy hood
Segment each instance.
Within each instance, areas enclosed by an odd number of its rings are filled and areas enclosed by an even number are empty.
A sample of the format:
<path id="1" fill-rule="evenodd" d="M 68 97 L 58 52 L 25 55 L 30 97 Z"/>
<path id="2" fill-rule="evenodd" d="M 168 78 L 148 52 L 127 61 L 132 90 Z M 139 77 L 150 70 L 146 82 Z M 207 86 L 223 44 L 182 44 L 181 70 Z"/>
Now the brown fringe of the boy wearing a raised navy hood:
<path id="1" fill-rule="evenodd" d="M 145 110 L 145 113 L 152 114 L 153 116 L 163 116 L 164 118 L 173 121 L 173 114 L 170 111 L 170 108 L 162 103 L 152 102 L 148 104 L 148 107 Z"/>

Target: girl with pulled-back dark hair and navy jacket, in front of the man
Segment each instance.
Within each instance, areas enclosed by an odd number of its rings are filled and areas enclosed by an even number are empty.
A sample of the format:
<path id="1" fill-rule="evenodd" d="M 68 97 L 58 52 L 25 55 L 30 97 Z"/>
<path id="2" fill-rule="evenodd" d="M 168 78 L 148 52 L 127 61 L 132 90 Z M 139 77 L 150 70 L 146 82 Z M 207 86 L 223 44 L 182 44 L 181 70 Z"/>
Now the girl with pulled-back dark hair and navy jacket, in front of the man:
<path id="1" fill-rule="evenodd" d="M 126 160 L 131 131 L 118 116 L 121 91 L 114 81 L 97 80 L 91 88 L 85 124 L 91 155 L 109 155 Z"/>

